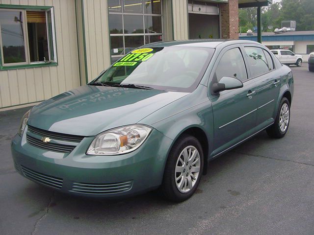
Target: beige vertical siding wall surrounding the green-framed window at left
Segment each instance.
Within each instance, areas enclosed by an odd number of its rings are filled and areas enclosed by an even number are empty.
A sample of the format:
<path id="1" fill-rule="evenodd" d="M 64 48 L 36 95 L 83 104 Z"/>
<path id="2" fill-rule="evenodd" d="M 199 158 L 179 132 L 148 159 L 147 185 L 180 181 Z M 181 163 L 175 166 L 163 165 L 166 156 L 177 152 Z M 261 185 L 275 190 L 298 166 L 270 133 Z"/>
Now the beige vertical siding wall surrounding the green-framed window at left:
<path id="1" fill-rule="evenodd" d="M 80 86 L 75 0 L 0 0 L 0 4 L 53 6 L 58 61 L 58 66 L 0 71 L 0 108 L 42 101 Z"/>

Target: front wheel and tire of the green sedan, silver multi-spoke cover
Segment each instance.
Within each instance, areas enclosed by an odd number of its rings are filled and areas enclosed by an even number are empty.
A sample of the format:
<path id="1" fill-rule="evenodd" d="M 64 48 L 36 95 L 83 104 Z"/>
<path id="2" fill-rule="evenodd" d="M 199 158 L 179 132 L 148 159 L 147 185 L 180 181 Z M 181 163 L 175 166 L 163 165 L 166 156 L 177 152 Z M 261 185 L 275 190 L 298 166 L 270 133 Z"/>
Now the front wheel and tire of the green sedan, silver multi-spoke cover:
<path id="1" fill-rule="evenodd" d="M 200 142 L 193 136 L 182 135 L 169 152 L 159 193 L 173 202 L 190 198 L 200 183 L 203 166 L 204 155 Z"/>

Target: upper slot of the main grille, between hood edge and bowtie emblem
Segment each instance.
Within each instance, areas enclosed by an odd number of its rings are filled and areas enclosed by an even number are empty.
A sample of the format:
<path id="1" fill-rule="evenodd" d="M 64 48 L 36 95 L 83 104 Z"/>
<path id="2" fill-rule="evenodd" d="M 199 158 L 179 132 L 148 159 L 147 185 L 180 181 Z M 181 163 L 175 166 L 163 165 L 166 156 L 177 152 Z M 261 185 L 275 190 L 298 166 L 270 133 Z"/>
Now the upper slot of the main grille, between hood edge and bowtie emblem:
<path id="1" fill-rule="evenodd" d="M 42 130 L 33 126 L 28 126 L 27 130 L 34 134 L 37 134 L 43 137 L 49 137 L 53 140 L 60 140 L 60 141 L 80 142 L 84 138 L 84 136 L 75 136 L 75 135 L 62 134 L 62 133 L 57 133 L 57 132 L 52 132 L 52 131 L 46 131 L 46 130 Z"/>

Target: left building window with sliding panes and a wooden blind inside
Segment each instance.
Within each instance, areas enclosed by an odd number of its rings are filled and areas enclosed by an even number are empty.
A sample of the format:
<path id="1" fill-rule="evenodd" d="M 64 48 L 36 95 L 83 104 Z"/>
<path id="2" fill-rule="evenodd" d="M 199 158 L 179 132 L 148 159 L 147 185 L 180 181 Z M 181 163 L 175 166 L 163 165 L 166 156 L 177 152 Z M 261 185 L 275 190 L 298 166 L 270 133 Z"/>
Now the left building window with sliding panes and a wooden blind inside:
<path id="1" fill-rule="evenodd" d="M 53 8 L 0 8 L 2 66 L 56 62 Z"/>

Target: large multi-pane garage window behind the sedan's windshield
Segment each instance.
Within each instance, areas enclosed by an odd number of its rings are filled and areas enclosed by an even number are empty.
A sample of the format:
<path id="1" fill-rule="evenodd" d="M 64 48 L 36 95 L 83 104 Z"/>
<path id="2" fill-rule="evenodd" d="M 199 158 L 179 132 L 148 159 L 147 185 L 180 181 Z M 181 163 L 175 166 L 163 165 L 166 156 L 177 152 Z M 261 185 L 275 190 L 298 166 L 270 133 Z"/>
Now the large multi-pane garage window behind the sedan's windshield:
<path id="1" fill-rule="evenodd" d="M 136 47 L 162 41 L 161 0 L 108 0 L 114 63 Z"/>

